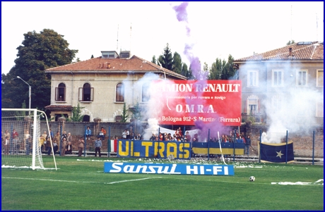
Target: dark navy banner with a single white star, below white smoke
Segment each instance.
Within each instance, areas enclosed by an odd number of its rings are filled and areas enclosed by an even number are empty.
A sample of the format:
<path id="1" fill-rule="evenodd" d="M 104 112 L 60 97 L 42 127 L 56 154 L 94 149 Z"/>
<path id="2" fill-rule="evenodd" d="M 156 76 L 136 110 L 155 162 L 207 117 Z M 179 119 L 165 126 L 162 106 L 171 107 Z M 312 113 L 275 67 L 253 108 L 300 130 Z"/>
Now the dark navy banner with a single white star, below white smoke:
<path id="1" fill-rule="evenodd" d="M 287 163 L 295 161 L 293 156 L 293 142 L 281 144 L 261 143 L 261 162 Z"/>

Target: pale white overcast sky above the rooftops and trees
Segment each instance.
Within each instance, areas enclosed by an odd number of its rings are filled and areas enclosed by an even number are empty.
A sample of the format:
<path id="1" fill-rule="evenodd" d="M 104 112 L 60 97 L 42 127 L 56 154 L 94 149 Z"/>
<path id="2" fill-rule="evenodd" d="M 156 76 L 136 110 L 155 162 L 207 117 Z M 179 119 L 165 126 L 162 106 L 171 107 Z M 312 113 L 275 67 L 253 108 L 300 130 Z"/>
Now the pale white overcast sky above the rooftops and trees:
<path id="1" fill-rule="evenodd" d="M 252 56 L 295 42 L 324 41 L 323 1 L 189 2 L 183 21 L 179 2 L 1 1 L 1 73 L 15 65 L 23 34 L 52 29 L 87 60 L 101 51 L 131 51 L 151 61 L 166 44 L 189 66 L 196 56 L 210 67 L 215 58 Z M 184 16 L 185 15 L 185 16 Z M 192 46 L 184 54 L 186 44 Z"/>

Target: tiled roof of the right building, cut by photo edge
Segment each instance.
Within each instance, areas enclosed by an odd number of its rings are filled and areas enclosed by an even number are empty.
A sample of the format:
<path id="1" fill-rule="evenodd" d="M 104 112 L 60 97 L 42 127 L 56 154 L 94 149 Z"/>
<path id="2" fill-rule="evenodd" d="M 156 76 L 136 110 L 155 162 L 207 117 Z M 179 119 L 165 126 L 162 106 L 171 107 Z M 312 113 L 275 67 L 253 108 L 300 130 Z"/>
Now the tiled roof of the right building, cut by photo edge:
<path id="1" fill-rule="evenodd" d="M 291 53 L 290 53 L 290 48 Z M 297 42 L 279 49 L 254 54 L 236 59 L 234 62 L 246 61 L 324 61 L 323 42 Z"/>

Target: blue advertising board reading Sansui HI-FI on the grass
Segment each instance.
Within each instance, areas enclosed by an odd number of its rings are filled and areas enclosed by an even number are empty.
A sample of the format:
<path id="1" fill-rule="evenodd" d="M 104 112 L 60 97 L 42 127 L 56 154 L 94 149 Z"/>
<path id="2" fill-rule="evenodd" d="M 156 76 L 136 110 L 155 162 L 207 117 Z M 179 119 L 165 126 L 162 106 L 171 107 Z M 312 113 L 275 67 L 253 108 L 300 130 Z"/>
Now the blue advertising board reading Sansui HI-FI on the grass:
<path id="1" fill-rule="evenodd" d="M 105 162 L 104 173 L 165 175 L 235 175 L 232 165 L 191 165 Z"/>

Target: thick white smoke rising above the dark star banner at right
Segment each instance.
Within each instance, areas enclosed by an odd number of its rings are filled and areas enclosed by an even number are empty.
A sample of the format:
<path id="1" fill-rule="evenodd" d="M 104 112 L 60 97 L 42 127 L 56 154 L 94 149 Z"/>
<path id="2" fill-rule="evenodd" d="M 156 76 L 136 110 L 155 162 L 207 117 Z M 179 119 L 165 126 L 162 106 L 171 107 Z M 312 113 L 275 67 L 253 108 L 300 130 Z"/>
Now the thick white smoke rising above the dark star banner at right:
<path id="1" fill-rule="evenodd" d="M 316 103 L 324 99 L 321 92 L 315 89 L 316 80 L 311 75 L 307 76 L 307 85 L 297 85 L 297 72 L 302 70 L 302 64 L 293 63 L 266 63 L 264 67 L 268 67 L 268 80 L 259 81 L 259 85 L 254 88 L 256 95 L 261 100 L 260 111 L 266 111 L 269 125 L 268 132 L 264 137 L 264 142 L 281 143 L 285 141 L 286 132 L 302 133 L 314 130 L 317 125 L 317 107 Z M 273 87 L 271 80 L 271 70 L 283 71 L 283 87 Z M 250 65 L 240 67 L 241 71 L 252 69 Z M 266 75 L 266 73 L 259 73 Z M 259 77 L 259 80 L 265 77 Z M 247 74 L 242 74 L 242 85 L 247 82 Z M 314 82 L 313 82 L 314 80 Z M 261 91 L 267 93 L 267 97 Z M 266 97 L 266 98 L 263 98 Z M 245 102 L 245 99 L 242 99 Z M 324 100 L 322 100 L 324 101 Z M 262 141 L 263 142 L 263 141 Z"/>

